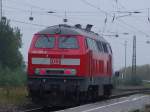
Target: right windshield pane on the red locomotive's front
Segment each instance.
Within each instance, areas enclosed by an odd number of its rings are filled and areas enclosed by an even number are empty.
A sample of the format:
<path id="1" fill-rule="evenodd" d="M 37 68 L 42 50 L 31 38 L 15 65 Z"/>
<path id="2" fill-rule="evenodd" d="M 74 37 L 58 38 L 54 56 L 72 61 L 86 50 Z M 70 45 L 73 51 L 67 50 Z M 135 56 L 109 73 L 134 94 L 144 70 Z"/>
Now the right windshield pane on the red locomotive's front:
<path id="1" fill-rule="evenodd" d="M 60 37 L 58 39 L 59 48 L 76 49 L 78 48 L 78 41 L 75 37 Z"/>

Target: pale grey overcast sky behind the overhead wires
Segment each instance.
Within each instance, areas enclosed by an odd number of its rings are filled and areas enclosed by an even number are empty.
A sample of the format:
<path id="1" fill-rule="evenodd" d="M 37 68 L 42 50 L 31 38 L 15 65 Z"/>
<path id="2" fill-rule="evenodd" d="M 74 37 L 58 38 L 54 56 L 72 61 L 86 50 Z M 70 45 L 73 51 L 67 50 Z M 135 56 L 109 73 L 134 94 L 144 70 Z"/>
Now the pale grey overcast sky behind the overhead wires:
<path id="1" fill-rule="evenodd" d="M 114 68 L 124 67 L 124 42 L 127 41 L 127 66 L 132 64 L 132 40 L 137 37 L 137 65 L 150 64 L 150 0 L 3 0 L 3 16 L 23 34 L 21 52 L 27 61 L 34 33 L 51 25 L 93 24 L 93 31 L 105 35 L 114 53 Z M 48 11 L 55 13 L 49 14 Z M 127 13 L 138 11 L 140 13 Z M 34 20 L 29 21 L 33 16 Z M 124 33 L 128 33 L 125 35 Z M 119 34 L 119 37 L 114 36 Z"/>

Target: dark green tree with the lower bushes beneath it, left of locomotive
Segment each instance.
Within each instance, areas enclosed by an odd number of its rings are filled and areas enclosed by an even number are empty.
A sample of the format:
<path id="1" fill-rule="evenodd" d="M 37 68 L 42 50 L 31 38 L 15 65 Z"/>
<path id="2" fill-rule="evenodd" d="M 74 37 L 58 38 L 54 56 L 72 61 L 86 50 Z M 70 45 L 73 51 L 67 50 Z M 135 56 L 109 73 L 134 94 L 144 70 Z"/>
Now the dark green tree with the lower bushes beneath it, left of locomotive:
<path id="1" fill-rule="evenodd" d="M 0 87 L 20 86 L 26 82 L 25 64 L 20 48 L 22 34 L 9 20 L 0 21 Z"/>

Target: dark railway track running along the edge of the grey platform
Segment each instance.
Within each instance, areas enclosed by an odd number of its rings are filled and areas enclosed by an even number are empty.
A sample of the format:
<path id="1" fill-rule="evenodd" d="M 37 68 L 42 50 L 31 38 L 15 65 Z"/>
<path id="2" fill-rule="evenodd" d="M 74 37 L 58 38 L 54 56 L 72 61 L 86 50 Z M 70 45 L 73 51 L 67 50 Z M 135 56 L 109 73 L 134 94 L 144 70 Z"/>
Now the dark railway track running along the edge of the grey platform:
<path id="1" fill-rule="evenodd" d="M 102 97 L 99 97 L 99 99 L 97 101 L 90 101 L 84 104 L 79 104 L 79 105 L 74 105 L 74 106 L 65 106 L 65 107 L 60 107 L 60 106 L 55 106 L 55 107 L 37 107 L 37 108 L 31 108 L 31 109 L 27 109 L 27 110 L 23 110 L 23 111 L 19 111 L 19 112 L 52 112 L 52 111 L 59 111 L 59 110 L 64 110 L 67 108 L 72 108 L 72 107 L 77 107 L 77 106 L 81 106 L 81 105 L 85 105 L 85 104 L 90 104 L 93 102 L 98 102 L 98 101 L 104 101 L 104 100 L 111 100 L 111 99 L 117 99 L 117 98 L 121 98 L 121 97 L 125 97 L 125 96 L 130 96 L 130 95 L 134 95 L 134 94 L 146 94 L 146 93 L 150 93 L 150 89 L 146 88 L 146 89 L 135 89 L 135 90 L 130 90 L 130 91 L 126 91 L 124 93 L 121 94 L 114 94 L 112 96 L 110 96 L 109 99 L 104 99 Z"/>

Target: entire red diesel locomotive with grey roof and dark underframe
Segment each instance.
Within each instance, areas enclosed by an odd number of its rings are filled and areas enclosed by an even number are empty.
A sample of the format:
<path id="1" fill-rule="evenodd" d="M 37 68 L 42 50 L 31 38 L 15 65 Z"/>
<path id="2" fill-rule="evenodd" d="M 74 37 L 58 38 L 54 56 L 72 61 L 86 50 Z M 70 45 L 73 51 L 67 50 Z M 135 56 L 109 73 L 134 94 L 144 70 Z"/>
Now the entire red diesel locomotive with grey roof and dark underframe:
<path id="1" fill-rule="evenodd" d="M 33 99 L 48 96 L 54 102 L 54 97 L 77 100 L 111 94 L 112 50 L 91 27 L 61 24 L 34 35 L 27 72 Z"/>

